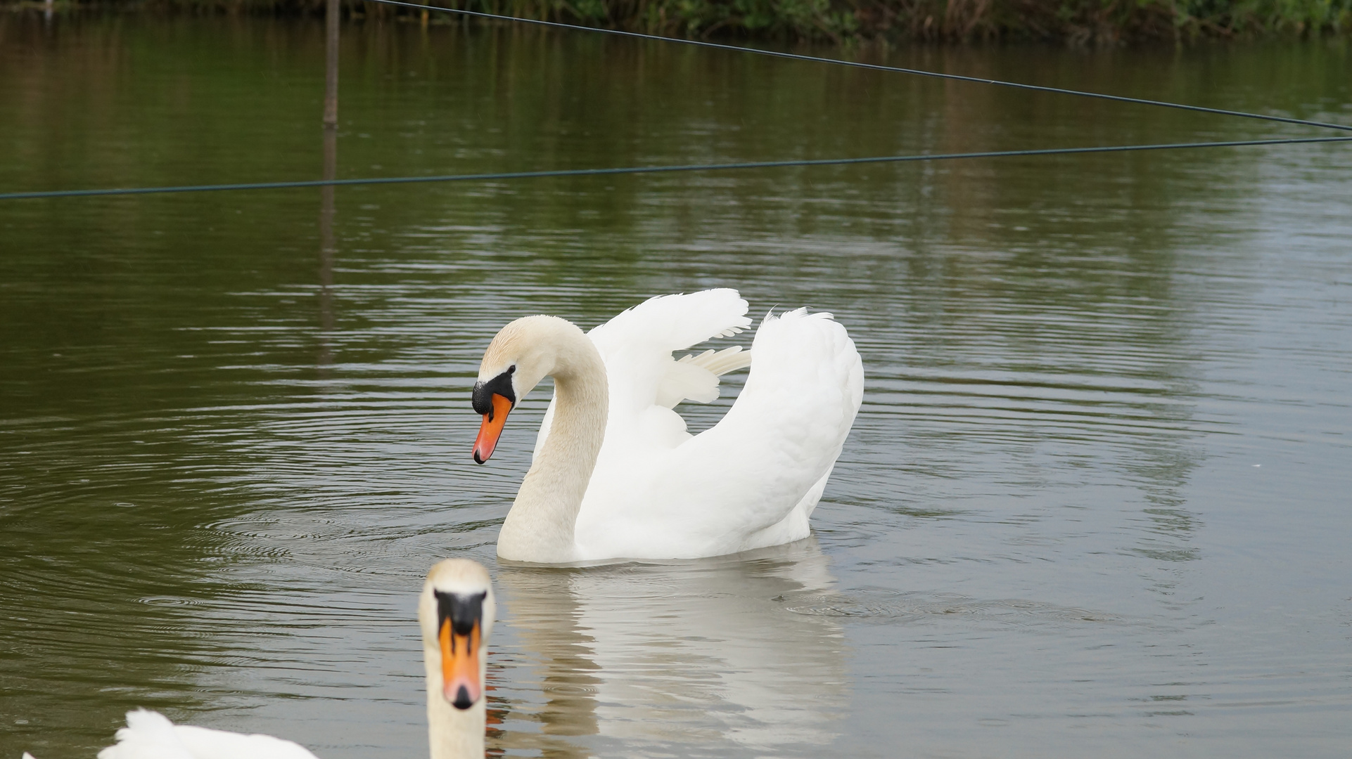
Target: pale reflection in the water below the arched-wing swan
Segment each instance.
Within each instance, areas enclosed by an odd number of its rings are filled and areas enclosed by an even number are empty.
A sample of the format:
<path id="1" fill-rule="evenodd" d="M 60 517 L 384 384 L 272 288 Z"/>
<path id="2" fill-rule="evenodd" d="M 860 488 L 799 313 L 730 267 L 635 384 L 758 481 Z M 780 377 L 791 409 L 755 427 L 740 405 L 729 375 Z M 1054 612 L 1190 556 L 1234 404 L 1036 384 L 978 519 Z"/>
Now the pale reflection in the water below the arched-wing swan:
<path id="1" fill-rule="evenodd" d="M 511 632 L 489 710 L 504 729 L 489 745 L 784 755 L 830 743 L 849 700 L 844 633 L 786 600 L 833 583 L 814 538 L 714 559 L 503 566 Z"/>

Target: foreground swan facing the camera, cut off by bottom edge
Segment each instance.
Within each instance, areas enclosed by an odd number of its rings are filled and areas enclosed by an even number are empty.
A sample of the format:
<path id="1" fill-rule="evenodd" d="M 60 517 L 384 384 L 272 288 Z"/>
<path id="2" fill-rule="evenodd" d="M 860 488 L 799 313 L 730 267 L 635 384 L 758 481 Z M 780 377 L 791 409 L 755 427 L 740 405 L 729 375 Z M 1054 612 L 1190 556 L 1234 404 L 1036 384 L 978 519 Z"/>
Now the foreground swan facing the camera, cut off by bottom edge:
<path id="1" fill-rule="evenodd" d="M 431 759 L 483 759 L 483 655 L 496 605 L 488 571 L 469 559 L 431 567 L 418 601 L 427 666 L 427 737 Z M 127 712 L 118 743 L 99 759 L 316 759 L 297 743 L 268 735 L 243 735 L 174 725 L 164 714 Z M 24 754 L 23 759 L 32 759 Z"/>

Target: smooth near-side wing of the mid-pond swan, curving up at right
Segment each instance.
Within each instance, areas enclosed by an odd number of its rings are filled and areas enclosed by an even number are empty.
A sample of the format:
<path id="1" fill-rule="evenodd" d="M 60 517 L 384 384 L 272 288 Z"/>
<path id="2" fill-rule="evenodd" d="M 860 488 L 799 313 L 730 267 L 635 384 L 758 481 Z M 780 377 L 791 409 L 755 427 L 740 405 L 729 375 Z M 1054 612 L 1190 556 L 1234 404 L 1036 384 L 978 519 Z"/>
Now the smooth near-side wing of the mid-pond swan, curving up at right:
<path id="1" fill-rule="evenodd" d="M 815 504 L 808 496 L 819 494 L 863 400 L 859 352 L 829 313 L 806 309 L 768 316 L 752 351 L 746 386 L 713 428 L 649 466 L 625 462 L 627 473 L 598 462 L 606 478 L 592 488 L 604 492 L 587 493 L 580 542 L 585 517 L 588 539 L 629 555 L 727 554 L 757 547 L 794 509 Z M 800 521 L 798 538 L 807 535 L 806 515 Z"/>

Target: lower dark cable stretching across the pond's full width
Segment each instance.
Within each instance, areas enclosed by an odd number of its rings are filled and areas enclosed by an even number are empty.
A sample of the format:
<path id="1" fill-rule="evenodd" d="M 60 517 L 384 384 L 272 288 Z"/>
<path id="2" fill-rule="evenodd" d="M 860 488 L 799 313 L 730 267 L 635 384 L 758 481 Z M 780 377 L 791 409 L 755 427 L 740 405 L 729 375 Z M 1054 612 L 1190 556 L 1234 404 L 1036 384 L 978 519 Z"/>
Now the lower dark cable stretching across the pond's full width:
<path id="1" fill-rule="evenodd" d="M 1233 142 L 1176 142 L 1163 145 L 1107 145 L 1098 147 L 1048 147 L 1042 150 L 990 150 L 983 153 L 936 153 L 914 155 L 879 155 L 869 158 L 817 158 L 802 161 L 746 161 L 741 163 L 691 163 L 684 166 L 622 166 L 614 169 L 557 169 L 549 172 L 498 172 L 493 174 L 442 174 L 434 177 L 372 177 L 358 180 L 301 180 L 293 182 L 247 182 L 234 185 L 187 185 L 166 188 L 122 188 L 88 190 L 46 190 L 0 193 L 0 200 L 35 197 L 88 197 L 103 194 L 155 194 L 176 192 L 223 192 L 246 189 L 318 188 L 327 185 L 395 185 L 414 182 L 469 182 L 492 180 L 531 180 L 546 177 L 596 177 L 608 174 L 658 174 L 671 172 L 721 172 L 725 169 L 783 169 L 790 166 L 842 166 L 849 163 L 902 163 L 907 161 L 952 161 L 959 158 L 1013 158 L 1018 155 L 1075 155 L 1083 153 L 1128 153 L 1138 150 L 1176 150 L 1183 147 L 1247 147 L 1255 145 L 1299 145 L 1310 142 L 1352 142 L 1352 136 L 1306 136 L 1288 139 L 1245 139 Z"/>

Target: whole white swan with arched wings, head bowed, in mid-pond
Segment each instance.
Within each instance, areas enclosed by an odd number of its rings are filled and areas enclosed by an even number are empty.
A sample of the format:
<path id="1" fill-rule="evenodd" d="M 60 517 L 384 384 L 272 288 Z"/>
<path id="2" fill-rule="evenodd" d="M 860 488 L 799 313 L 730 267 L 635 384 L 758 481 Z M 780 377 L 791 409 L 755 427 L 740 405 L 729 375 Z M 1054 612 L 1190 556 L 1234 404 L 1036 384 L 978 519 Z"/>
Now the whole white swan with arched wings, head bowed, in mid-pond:
<path id="1" fill-rule="evenodd" d="M 830 313 L 767 316 L 737 402 L 691 436 L 672 407 L 718 397 L 718 374 L 748 359 L 672 351 L 740 332 L 745 315 L 737 290 L 717 289 L 650 298 L 588 335 L 554 316 L 503 327 L 475 384 L 475 461 L 492 455 L 507 413 L 546 375 L 554 400 L 498 555 L 688 559 L 806 538 L 863 400 L 863 363 Z"/>

